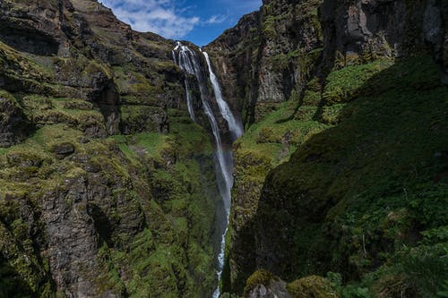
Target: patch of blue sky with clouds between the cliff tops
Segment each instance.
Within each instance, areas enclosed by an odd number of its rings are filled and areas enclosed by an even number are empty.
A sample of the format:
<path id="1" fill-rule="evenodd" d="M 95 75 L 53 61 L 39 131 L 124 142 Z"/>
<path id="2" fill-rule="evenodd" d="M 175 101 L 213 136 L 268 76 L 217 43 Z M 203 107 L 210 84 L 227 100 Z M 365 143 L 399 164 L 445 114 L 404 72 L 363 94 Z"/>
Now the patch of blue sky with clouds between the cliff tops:
<path id="1" fill-rule="evenodd" d="M 262 0 L 99 0 L 137 31 L 205 46 Z"/>

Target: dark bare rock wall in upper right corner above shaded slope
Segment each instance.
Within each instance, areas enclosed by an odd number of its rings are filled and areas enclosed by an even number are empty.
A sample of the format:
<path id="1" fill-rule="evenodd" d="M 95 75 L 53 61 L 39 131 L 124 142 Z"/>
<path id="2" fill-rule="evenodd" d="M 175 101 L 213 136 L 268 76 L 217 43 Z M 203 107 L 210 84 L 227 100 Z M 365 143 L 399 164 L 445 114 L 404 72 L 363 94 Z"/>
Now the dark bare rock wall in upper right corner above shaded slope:
<path id="1" fill-rule="evenodd" d="M 324 60 L 335 59 L 336 66 L 428 49 L 446 73 L 443 1 L 324 1 L 321 15 Z"/>

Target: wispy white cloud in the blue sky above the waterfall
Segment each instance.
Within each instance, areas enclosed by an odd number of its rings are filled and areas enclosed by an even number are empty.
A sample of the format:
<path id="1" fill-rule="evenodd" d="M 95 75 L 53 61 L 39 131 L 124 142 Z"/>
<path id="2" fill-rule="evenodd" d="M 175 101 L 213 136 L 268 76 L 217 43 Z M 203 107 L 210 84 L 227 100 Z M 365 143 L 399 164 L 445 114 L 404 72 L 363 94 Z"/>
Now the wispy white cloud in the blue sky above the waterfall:
<path id="1" fill-rule="evenodd" d="M 183 38 L 200 23 L 197 16 L 183 16 L 176 0 L 103 0 L 103 4 L 134 30 L 151 31 L 165 38 Z"/>

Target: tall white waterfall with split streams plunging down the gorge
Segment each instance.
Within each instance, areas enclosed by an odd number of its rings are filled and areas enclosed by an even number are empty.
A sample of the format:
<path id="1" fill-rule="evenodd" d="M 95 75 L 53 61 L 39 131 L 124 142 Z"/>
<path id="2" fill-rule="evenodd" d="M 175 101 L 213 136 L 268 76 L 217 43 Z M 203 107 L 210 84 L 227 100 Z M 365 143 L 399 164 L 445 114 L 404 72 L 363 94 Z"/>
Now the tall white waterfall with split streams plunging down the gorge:
<path id="1" fill-rule="evenodd" d="M 176 55 L 176 52 L 178 55 Z M 216 153 L 215 153 L 215 165 L 216 165 L 216 175 L 218 180 L 218 187 L 220 190 L 220 196 L 224 205 L 224 217 L 225 221 L 225 231 L 221 235 L 220 242 L 220 253 L 218 255 L 218 268 L 217 268 L 217 276 L 218 280 L 220 280 L 222 269 L 224 267 L 224 250 L 226 245 L 226 234 L 228 231 L 228 215 L 230 211 L 230 202 L 231 202 L 231 189 L 233 186 L 233 158 L 231 150 L 224 150 L 222 140 L 220 137 L 220 126 L 216 120 L 215 115 L 213 114 L 213 110 L 211 109 L 211 104 L 208 101 L 206 94 L 208 94 L 208 79 L 211 81 L 211 85 L 213 87 L 213 91 L 215 94 L 216 101 L 220 108 L 220 114 L 228 123 L 228 129 L 232 134 L 233 140 L 237 139 L 243 134 L 243 127 L 240 123 L 237 122 L 235 116 L 232 114 L 228 104 L 224 101 L 221 94 L 220 83 L 211 68 L 210 57 L 206 52 L 202 52 L 205 57 L 208 66 L 208 73 L 210 78 L 204 78 L 202 72 L 201 64 L 199 57 L 196 55 L 194 51 L 190 48 L 182 45 L 180 42 L 177 42 L 177 46 L 173 51 L 173 59 L 175 63 L 179 65 L 181 69 L 189 74 L 193 74 L 196 80 L 199 83 L 199 89 L 201 91 L 201 100 L 203 112 L 207 115 L 211 125 L 211 132 L 213 133 L 213 137 L 216 142 Z M 192 100 L 190 96 L 190 91 L 188 88 L 188 80 L 185 78 L 185 89 L 186 89 L 186 102 L 188 106 L 188 112 L 190 113 L 193 120 L 194 118 L 194 110 L 192 105 Z M 220 287 L 215 290 L 213 293 L 213 298 L 218 298 L 220 296 Z"/>

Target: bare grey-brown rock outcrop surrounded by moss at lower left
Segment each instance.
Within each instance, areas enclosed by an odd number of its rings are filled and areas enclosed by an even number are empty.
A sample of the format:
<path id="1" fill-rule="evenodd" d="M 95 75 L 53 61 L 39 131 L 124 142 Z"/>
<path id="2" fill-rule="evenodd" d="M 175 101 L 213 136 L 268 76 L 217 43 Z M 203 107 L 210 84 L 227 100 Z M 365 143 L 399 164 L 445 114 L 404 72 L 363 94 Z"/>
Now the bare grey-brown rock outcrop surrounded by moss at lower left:
<path id="1" fill-rule="evenodd" d="M 72 149 L 66 144 L 63 146 L 64 152 Z M 117 289 L 101 289 L 99 277 L 104 274 L 104 268 L 98 260 L 99 249 L 102 242 L 118 245 L 114 244 L 114 234 L 125 232 L 133 237 L 142 232 L 142 209 L 125 198 L 125 192 L 114 193 L 123 188 L 132 189 L 132 184 L 120 177 L 108 181 L 101 174 L 104 173 L 101 168 L 93 166 L 86 156 L 71 159 L 85 171 L 71 173 L 64 183 L 44 194 L 41 220 L 51 236 L 47 237 L 42 255 L 49 260 L 51 277 L 59 291 L 73 297 L 121 296 L 123 293 Z M 108 166 L 111 165 L 101 167 Z M 119 214 L 119 221 L 111 218 L 112 211 Z"/>

